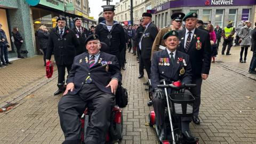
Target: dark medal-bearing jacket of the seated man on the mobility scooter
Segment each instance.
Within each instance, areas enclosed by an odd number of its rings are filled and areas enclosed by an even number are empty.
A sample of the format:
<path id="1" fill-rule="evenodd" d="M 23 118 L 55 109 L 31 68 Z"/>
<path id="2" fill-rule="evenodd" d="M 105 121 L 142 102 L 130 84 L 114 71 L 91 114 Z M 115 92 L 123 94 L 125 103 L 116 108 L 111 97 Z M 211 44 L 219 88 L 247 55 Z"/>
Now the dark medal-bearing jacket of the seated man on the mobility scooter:
<path id="1" fill-rule="evenodd" d="M 192 73 L 191 73 L 191 65 L 190 65 L 188 54 L 176 51 L 175 58 L 174 58 L 174 66 L 172 66 L 171 63 L 170 63 L 170 66 L 159 65 L 160 58 L 170 59 L 167 50 L 157 51 L 157 52 L 154 52 L 153 54 L 153 59 L 151 64 L 151 74 L 150 74 L 151 85 L 153 89 L 157 88 L 157 85 L 160 84 L 159 81 L 161 79 L 165 79 L 167 82 L 181 81 L 182 83 L 185 83 L 185 84 L 191 84 Z M 179 61 L 178 58 L 185 59 L 187 66 L 184 66 L 183 61 Z M 185 69 L 184 74 L 180 74 L 180 70 L 182 68 Z"/>

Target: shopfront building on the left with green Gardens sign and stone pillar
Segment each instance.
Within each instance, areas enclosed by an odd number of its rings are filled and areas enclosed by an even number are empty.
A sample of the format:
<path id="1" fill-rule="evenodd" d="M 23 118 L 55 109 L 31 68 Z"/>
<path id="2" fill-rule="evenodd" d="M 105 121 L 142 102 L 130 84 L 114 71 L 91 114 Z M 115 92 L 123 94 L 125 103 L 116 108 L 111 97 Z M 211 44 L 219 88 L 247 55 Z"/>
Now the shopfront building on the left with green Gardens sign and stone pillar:
<path id="1" fill-rule="evenodd" d="M 88 0 L 1 0 L 0 22 L 3 24 L 7 41 L 11 44 L 9 57 L 17 57 L 16 48 L 11 42 L 11 31 L 18 27 L 24 42 L 21 50 L 27 50 L 27 57 L 39 54 L 39 44 L 35 36 L 39 26 L 45 25 L 52 29 L 57 25 L 59 16 L 66 17 L 67 26 L 74 27 L 74 19 L 83 18 L 83 26 L 89 28 L 96 21 L 89 17 Z"/>

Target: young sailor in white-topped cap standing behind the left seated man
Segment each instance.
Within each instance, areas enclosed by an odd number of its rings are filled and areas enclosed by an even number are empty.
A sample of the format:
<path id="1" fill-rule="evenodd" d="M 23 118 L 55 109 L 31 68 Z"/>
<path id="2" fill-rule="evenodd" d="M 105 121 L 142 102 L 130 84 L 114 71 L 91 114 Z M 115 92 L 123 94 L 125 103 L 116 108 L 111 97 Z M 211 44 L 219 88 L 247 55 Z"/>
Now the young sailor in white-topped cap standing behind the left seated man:
<path id="1" fill-rule="evenodd" d="M 124 29 L 120 23 L 114 21 L 115 5 L 103 5 L 102 7 L 105 20 L 97 25 L 95 34 L 100 37 L 100 42 L 108 45 L 108 50 L 105 52 L 116 55 L 119 64 L 121 65 L 120 53 L 125 49 Z"/>

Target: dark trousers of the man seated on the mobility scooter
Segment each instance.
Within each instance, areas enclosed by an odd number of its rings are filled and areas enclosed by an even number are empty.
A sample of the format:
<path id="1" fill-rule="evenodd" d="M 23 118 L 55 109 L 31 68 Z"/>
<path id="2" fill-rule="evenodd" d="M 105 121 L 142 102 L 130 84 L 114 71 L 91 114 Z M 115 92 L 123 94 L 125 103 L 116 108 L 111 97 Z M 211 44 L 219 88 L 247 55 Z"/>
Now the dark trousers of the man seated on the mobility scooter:
<path id="1" fill-rule="evenodd" d="M 170 92 L 171 92 L 171 90 L 169 89 L 168 93 L 170 93 Z M 191 92 L 188 90 L 185 90 L 184 93 L 191 94 Z M 167 107 L 166 100 L 159 99 L 158 97 L 154 97 L 153 98 L 153 107 L 154 107 L 154 111 L 156 114 L 156 124 L 158 126 L 163 126 L 165 123 L 165 107 Z M 171 107 L 171 105 L 170 105 L 170 107 Z M 177 121 L 179 121 L 178 118 L 177 118 Z M 189 123 L 191 121 L 192 121 L 191 116 L 190 117 L 181 117 L 182 129 L 185 131 L 189 130 Z"/>

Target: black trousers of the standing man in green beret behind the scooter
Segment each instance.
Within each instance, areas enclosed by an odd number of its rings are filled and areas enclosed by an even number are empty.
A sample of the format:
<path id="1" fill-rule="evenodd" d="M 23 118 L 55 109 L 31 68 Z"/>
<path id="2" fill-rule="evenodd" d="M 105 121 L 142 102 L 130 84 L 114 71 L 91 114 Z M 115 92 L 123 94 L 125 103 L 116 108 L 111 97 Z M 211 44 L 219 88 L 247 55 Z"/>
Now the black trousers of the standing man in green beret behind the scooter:
<path id="1" fill-rule="evenodd" d="M 190 92 L 195 97 L 195 105 L 194 105 L 194 116 L 198 116 L 199 107 L 201 104 L 201 86 L 203 79 L 200 78 L 192 78 L 192 83 L 196 84 L 196 87 L 191 87 Z"/>

